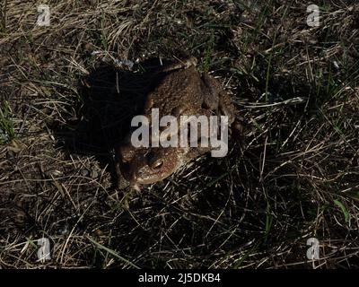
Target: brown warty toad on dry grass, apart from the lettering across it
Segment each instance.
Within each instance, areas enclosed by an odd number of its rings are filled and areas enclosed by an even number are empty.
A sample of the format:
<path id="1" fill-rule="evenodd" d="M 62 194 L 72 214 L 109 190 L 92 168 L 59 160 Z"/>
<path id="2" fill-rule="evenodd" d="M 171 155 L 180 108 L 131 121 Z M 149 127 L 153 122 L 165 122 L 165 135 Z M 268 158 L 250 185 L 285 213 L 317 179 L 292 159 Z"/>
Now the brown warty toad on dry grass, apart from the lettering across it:
<path id="1" fill-rule="evenodd" d="M 144 105 L 143 115 L 151 122 L 153 109 L 160 117 L 228 116 L 228 124 L 235 119 L 235 109 L 221 84 L 209 74 L 200 74 L 193 57 L 162 69 L 162 82 L 151 91 Z M 163 130 L 163 128 L 162 128 Z M 169 177 L 184 163 L 210 151 L 210 147 L 135 147 L 128 135 L 116 153 L 118 172 L 139 190 L 139 186 Z"/>

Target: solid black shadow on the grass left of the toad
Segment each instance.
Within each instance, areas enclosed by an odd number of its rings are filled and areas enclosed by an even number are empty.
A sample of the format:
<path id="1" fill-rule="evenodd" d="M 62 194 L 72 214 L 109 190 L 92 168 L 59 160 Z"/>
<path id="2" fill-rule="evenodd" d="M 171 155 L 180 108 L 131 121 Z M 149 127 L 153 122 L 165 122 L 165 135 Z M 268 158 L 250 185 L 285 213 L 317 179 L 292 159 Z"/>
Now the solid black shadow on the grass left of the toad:
<path id="1" fill-rule="evenodd" d="M 101 63 L 79 81 L 80 105 L 66 125 L 53 126 L 59 147 L 70 153 L 93 155 L 117 178 L 113 151 L 141 114 L 148 92 L 162 80 L 160 60 L 152 58 L 130 72 Z M 164 65 L 170 62 L 162 63 Z"/>

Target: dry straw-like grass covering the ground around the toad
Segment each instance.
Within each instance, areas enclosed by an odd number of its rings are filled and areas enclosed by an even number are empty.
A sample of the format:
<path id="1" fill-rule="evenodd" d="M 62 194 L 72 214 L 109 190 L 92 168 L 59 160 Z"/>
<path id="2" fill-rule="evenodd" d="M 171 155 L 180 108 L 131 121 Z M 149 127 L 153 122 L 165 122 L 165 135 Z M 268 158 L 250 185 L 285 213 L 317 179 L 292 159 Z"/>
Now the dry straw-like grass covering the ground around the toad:
<path id="1" fill-rule="evenodd" d="M 2 1 L 0 266 L 358 267 L 359 4 L 318 0 L 319 27 L 308 4 Z M 142 63 L 184 55 L 231 92 L 243 143 L 119 190 L 112 150 Z"/>

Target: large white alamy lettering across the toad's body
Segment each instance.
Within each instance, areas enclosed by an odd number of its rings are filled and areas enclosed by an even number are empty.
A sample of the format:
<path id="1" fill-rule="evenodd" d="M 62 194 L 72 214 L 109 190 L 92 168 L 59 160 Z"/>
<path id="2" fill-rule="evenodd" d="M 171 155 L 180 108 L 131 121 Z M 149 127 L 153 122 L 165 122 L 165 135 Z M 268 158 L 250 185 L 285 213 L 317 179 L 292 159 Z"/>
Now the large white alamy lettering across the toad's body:
<path id="1" fill-rule="evenodd" d="M 131 135 L 131 143 L 135 147 L 187 148 L 197 147 L 200 142 L 201 147 L 211 148 L 213 157 L 223 157 L 228 152 L 227 116 L 180 116 L 179 123 L 177 117 L 160 118 L 159 109 L 152 109 L 151 121 L 148 117 L 136 116 L 132 118 L 131 126 L 138 127 Z"/>

